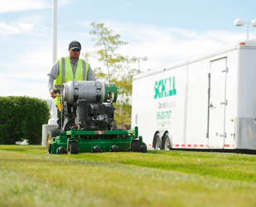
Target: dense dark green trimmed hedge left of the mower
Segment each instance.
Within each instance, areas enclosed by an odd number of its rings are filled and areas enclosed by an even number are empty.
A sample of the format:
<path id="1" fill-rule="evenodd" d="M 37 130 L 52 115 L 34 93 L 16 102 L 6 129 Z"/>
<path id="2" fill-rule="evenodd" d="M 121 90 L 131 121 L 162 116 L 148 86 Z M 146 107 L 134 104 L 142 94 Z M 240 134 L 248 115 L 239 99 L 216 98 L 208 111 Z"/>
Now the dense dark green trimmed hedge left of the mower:
<path id="1" fill-rule="evenodd" d="M 50 113 L 45 100 L 29 97 L 0 97 L 0 143 L 14 144 L 27 139 L 41 143 L 41 125 Z"/>

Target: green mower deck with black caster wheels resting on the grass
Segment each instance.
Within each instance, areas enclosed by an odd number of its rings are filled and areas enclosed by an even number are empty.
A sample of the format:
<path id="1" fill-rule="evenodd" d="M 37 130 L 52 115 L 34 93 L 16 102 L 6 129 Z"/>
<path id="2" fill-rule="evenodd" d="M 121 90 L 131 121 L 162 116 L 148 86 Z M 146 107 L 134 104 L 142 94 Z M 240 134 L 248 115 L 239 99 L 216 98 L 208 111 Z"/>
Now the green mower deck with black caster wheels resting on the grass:
<path id="1" fill-rule="evenodd" d="M 71 128 L 52 137 L 48 152 L 77 154 L 79 152 L 147 152 L 147 147 L 134 130 L 81 131 Z"/>

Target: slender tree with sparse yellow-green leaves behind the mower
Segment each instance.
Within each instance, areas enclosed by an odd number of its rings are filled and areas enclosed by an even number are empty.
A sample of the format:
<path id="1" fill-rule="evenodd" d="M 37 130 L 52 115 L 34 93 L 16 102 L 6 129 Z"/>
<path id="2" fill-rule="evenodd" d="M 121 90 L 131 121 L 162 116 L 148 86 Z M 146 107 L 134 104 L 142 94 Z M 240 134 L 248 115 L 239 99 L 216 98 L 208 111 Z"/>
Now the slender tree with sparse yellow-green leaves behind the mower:
<path id="1" fill-rule="evenodd" d="M 94 68 L 97 79 L 117 84 L 118 101 L 114 103 L 115 120 L 118 128 L 123 128 L 124 125 L 131 124 L 133 75 L 140 71 L 131 68 L 134 60 L 117 53 L 119 46 L 127 45 L 127 41 L 121 41 L 120 36 L 104 26 L 104 23 L 92 22 L 91 26 L 93 30 L 89 34 L 93 36 L 92 41 L 95 41 L 94 51 L 85 53 L 85 59 L 95 58 L 103 65 L 104 68 Z"/>

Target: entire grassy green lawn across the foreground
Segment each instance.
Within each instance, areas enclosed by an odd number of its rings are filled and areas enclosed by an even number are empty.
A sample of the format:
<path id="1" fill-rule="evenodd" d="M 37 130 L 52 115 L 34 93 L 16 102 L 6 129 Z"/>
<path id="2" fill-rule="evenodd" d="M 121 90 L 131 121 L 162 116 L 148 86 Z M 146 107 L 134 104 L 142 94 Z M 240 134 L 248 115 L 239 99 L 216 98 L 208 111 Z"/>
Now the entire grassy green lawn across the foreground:
<path id="1" fill-rule="evenodd" d="M 0 206 L 256 206 L 256 156 L 0 145 Z"/>

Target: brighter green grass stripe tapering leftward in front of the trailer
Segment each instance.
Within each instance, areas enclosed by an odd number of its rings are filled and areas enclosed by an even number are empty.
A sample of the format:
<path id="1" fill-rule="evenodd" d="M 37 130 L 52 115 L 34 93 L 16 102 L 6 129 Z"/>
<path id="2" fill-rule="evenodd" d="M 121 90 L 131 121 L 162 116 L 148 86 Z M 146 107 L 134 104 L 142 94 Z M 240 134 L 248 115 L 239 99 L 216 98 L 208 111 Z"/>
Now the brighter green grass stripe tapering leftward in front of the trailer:
<path id="1" fill-rule="evenodd" d="M 181 151 L 120 154 L 86 153 L 69 157 L 86 161 L 109 161 L 167 171 L 182 171 L 232 181 L 256 182 L 256 156 L 254 155 Z"/>

